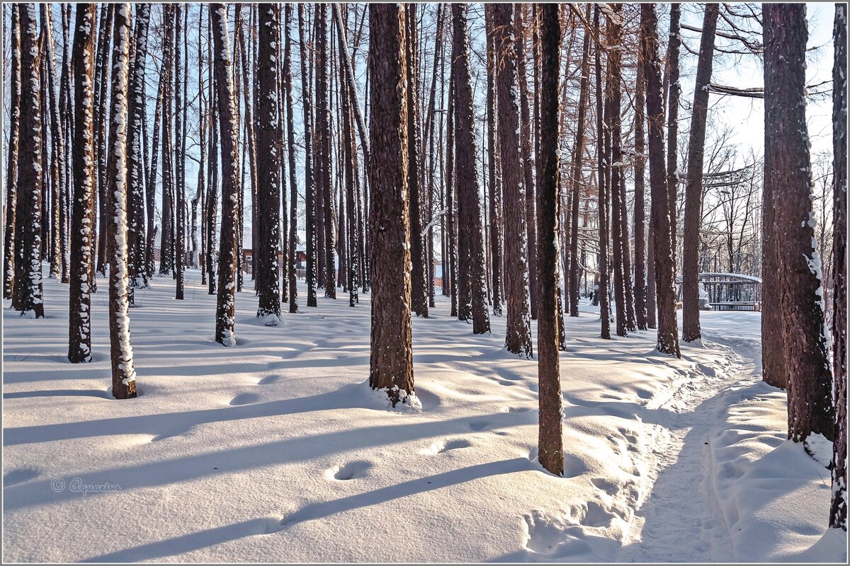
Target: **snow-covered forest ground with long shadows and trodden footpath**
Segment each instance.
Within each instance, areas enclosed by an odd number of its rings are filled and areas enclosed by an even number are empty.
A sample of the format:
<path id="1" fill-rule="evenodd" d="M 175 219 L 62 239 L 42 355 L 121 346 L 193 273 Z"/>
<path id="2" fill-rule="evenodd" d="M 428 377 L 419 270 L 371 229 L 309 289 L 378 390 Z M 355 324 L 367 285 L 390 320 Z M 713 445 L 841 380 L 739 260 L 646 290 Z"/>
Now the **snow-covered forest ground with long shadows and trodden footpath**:
<path id="1" fill-rule="evenodd" d="M 104 293 L 84 365 L 65 357 L 66 286 L 45 280 L 46 320 L 4 302 L 5 561 L 846 561 L 829 471 L 759 381 L 758 313 L 703 313 L 679 361 L 652 332 L 598 339 L 582 306 L 558 478 L 536 463 L 536 362 L 503 349 L 504 318 L 474 336 L 438 297 L 413 323 L 422 412 L 397 412 L 366 384 L 368 295 L 302 298 L 268 328 L 243 292 L 224 348 L 199 279 L 180 302 L 170 277 L 137 291 L 130 401 L 106 391 Z"/>

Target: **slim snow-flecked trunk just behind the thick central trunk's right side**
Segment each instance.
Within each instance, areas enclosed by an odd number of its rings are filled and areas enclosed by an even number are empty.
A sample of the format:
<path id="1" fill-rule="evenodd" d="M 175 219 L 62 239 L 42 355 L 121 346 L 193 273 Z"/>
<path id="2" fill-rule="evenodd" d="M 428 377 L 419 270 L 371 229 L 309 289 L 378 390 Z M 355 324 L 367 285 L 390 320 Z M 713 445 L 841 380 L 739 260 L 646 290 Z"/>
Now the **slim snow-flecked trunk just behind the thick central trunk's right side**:
<path id="1" fill-rule="evenodd" d="M 411 303 L 417 317 L 428 318 L 426 246 L 422 238 L 424 190 L 420 182 L 419 61 L 416 56 L 416 4 L 405 4 L 405 66 L 407 67 L 407 190 L 411 218 Z"/>

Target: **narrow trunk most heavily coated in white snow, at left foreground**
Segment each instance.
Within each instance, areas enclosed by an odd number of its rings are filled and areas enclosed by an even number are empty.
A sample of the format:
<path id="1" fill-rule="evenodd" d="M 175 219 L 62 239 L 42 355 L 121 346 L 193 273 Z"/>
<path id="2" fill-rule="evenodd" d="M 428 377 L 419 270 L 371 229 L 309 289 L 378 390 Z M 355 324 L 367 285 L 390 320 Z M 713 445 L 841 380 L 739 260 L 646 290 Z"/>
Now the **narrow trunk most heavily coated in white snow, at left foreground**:
<path id="1" fill-rule="evenodd" d="M 116 4 L 112 51 L 112 124 L 106 172 L 106 231 L 111 242 L 109 266 L 109 336 L 112 396 L 136 396 L 136 371 L 127 314 L 127 75 L 129 73 L 129 3 Z"/>

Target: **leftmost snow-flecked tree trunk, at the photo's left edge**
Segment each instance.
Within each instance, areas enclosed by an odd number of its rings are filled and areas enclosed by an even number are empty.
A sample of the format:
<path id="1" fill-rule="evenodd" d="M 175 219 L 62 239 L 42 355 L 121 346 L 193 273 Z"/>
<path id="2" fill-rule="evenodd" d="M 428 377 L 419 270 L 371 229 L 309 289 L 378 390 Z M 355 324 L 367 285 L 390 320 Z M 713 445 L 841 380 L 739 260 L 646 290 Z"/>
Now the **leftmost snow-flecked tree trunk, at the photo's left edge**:
<path id="1" fill-rule="evenodd" d="M 9 136 L 8 158 L 6 160 L 6 208 L 5 230 L 3 235 L 3 299 L 14 297 L 15 275 L 15 205 L 18 195 L 18 145 L 20 143 L 20 10 L 23 5 L 12 4 L 12 56 L 9 92 Z"/>

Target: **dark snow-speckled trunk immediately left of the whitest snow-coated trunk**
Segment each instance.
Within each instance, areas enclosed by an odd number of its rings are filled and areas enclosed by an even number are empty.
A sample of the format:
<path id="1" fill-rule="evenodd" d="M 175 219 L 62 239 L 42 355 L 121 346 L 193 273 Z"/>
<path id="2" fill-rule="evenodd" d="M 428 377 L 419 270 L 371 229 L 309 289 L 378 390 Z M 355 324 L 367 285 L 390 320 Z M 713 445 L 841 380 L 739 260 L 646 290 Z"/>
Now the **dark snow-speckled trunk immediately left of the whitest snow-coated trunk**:
<path id="1" fill-rule="evenodd" d="M 94 4 L 77 5 L 74 26 L 74 198 L 71 201 L 71 284 L 68 361 L 92 361 L 91 288 L 94 252 Z"/>

